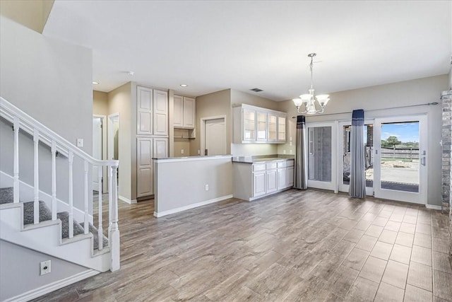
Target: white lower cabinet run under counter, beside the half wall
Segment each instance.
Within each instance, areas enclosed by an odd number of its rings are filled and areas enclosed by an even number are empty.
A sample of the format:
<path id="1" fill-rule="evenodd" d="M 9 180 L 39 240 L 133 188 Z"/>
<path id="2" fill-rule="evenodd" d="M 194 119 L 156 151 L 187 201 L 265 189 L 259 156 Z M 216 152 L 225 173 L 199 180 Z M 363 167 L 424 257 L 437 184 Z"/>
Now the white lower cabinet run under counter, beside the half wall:
<path id="1" fill-rule="evenodd" d="M 293 186 L 293 160 L 266 163 L 234 162 L 234 197 L 254 200 Z"/>

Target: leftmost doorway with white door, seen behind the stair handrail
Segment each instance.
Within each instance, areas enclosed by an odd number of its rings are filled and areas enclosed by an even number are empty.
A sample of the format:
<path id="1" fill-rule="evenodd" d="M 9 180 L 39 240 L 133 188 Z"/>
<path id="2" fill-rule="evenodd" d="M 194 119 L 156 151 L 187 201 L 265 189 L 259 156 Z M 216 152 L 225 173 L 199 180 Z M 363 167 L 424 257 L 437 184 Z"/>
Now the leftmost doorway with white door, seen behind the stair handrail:
<path id="1" fill-rule="evenodd" d="M 93 158 L 105 160 L 107 158 L 107 116 L 93 115 Z M 93 190 L 99 190 L 99 166 L 93 165 Z M 107 168 L 102 169 L 102 192 L 107 190 L 107 182 L 104 181 Z"/>

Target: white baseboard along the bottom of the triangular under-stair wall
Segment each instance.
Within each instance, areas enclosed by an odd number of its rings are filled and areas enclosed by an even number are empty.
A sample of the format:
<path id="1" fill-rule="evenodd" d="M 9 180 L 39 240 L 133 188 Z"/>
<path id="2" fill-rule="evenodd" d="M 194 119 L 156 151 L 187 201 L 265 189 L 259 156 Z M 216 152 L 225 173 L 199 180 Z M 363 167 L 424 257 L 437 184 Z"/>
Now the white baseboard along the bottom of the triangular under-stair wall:
<path id="1" fill-rule="evenodd" d="M 13 298 L 8 298 L 4 302 L 10 302 L 10 301 L 30 301 L 34 298 L 38 298 L 40 296 L 44 296 L 45 294 L 49 294 L 52 291 L 56 291 L 57 289 L 62 289 L 64 286 L 71 285 L 73 283 L 76 283 L 78 281 L 81 281 L 83 279 L 93 277 L 96 274 L 99 274 L 100 272 L 97 272 L 94 269 L 88 269 L 85 270 L 85 272 L 80 272 L 78 274 L 74 274 L 71 277 L 67 277 L 58 281 L 54 281 L 50 284 L 38 287 L 37 289 L 32 289 L 31 291 L 27 291 L 26 293 L 20 294 L 18 296 L 15 296 Z"/>

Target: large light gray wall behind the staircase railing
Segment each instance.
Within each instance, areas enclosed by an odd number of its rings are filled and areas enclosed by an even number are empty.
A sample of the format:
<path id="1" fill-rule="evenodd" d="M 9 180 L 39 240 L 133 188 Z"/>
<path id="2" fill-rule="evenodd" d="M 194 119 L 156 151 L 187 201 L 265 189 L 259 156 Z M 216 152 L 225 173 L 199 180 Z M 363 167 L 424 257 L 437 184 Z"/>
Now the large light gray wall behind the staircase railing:
<path id="1" fill-rule="evenodd" d="M 81 149 L 92 154 L 92 51 L 44 37 L 3 16 L 0 17 L 0 30 L 0 95 L 72 144 L 75 145 L 78 138 L 83 139 Z M 20 139 L 20 146 L 29 143 L 30 140 Z M 12 144 L 1 144 L 2 156 L 12 148 Z M 32 149 L 20 152 L 30 151 Z M 49 157 L 42 157 L 44 153 L 42 150 L 40 156 L 40 188 L 47 192 L 51 178 L 47 172 L 51 164 Z M 74 187 L 76 207 L 78 202 L 83 203 L 83 165 L 78 161 L 78 158 L 74 159 L 74 180 L 81 180 Z M 1 163 L 3 170 L 7 163 L 5 158 Z M 57 195 L 67 200 L 68 173 L 67 170 L 58 171 Z M 32 175 L 32 159 L 28 154 L 20 162 L 20 179 L 32 185 Z M 91 177 L 88 173 L 89 185 L 92 184 Z"/>

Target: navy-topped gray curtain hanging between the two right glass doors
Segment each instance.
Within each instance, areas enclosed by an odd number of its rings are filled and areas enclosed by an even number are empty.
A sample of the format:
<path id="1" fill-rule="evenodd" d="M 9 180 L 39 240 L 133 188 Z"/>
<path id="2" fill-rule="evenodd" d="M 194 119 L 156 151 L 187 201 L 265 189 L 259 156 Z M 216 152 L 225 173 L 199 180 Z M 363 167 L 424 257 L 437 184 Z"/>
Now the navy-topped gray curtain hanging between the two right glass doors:
<path id="1" fill-rule="evenodd" d="M 350 196 L 366 197 L 366 169 L 364 153 L 364 110 L 353 110 L 350 133 Z"/>

